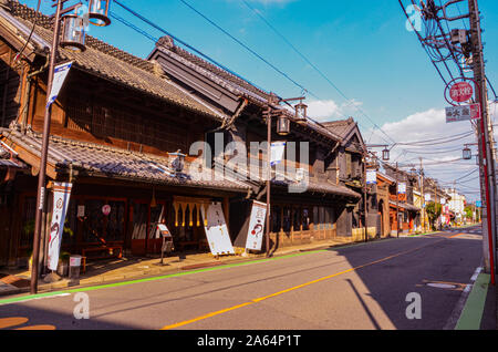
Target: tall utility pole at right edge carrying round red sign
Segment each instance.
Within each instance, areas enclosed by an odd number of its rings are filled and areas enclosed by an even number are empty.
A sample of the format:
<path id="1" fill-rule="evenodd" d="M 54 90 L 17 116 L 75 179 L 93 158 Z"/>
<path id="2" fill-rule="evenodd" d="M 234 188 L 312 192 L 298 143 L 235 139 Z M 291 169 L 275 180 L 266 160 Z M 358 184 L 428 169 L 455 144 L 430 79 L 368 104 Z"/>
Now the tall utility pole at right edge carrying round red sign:
<path id="1" fill-rule="evenodd" d="M 486 270 L 491 275 L 491 284 L 495 286 L 495 238 L 496 238 L 496 204 L 495 204 L 495 162 L 491 154 L 490 132 L 492 127 L 488 121 L 488 104 L 486 91 L 486 73 L 483 58 L 483 40 L 480 29 L 480 14 L 477 0 L 468 0 L 470 14 L 470 38 L 473 51 L 473 69 L 476 86 L 476 101 L 480 104 L 481 118 L 477 123 L 480 138 L 479 159 L 481 173 L 481 198 L 486 201 L 486 216 L 483 214 L 483 235 L 487 241 L 483 241 Z M 488 247 L 486 249 L 486 247 Z M 487 259 L 487 260 L 486 260 Z"/>

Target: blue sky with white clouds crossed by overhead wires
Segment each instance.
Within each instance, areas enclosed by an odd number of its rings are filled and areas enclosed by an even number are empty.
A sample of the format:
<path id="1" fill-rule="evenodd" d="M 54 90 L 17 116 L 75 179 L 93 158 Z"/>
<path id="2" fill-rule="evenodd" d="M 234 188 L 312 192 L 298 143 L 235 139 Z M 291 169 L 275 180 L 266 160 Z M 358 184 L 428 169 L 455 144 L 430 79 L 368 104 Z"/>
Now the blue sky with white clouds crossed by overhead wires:
<path id="1" fill-rule="evenodd" d="M 30 7 L 35 7 L 37 3 L 35 0 L 20 2 Z M 180 0 L 121 2 L 258 86 L 283 97 L 301 94 L 299 87 L 235 43 Z M 241 0 L 188 2 L 314 93 L 317 96 L 309 94 L 308 103 L 310 111 L 314 113 L 313 117 L 320 121 L 352 115 L 359 121 L 364 138 L 375 143 L 385 143 L 385 137 L 378 131 L 371 130 L 373 124 L 370 120 L 396 142 L 470 131 L 468 123 L 445 125 L 444 107 L 447 103 L 444 99 L 444 83 L 415 33 L 405 29 L 406 18 L 396 0 L 248 0 L 251 7 L 260 11 L 261 15 L 318 66 L 350 102 Z M 51 13 L 49 1 L 43 0 L 43 11 Z M 466 7 L 464 1 L 460 9 L 465 10 Z M 487 75 L 498 89 L 498 44 L 494 40 L 498 38 L 498 1 L 479 0 L 479 7 L 484 15 Z M 162 35 L 118 6 L 113 4 L 112 10 L 153 37 Z M 118 21 L 113 21 L 108 28 L 92 27 L 90 34 L 142 58 L 146 58 L 154 45 L 151 40 Z M 359 106 L 370 118 L 351 104 Z M 457 148 L 461 143 L 471 142 L 474 141 L 470 137 L 443 147 Z M 393 153 L 400 162 L 409 162 L 416 156 L 411 153 L 400 154 L 403 152 L 398 148 L 394 148 Z M 445 154 L 440 157 L 452 159 L 455 155 L 459 156 L 461 153 Z M 473 165 L 467 166 L 470 169 Z M 457 178 L 455 175 L 438 175 L 436 168 L 433 176 L 445 182 Z"/>

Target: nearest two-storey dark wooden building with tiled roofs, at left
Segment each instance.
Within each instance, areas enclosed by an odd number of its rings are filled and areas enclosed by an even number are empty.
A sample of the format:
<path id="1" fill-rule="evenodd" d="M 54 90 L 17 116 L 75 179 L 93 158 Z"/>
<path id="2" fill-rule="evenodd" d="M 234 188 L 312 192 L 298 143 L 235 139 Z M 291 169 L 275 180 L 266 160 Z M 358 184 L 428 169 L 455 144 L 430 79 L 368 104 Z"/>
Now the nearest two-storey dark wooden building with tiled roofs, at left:
<path id="1" fill-rule="evenodd" d="M 8 248 L 1 262 L 14 266 L 32 248 L 52 22 L 40 15 L 25 54 L 13 61 L 35 12 L 15 1 L 8 4 L 0 8 L 0 63 L 10 77 L 18 77 L 3 87 L 6 105 L 18 110 L 6 108 L 0 137 L 28 166 L 12 180 L 7 207 L 0 207 L 0 217 L 12 219 L 0 231 L 0 248 Z M 82 53 L 61 49 L 59 61 L 72 61 L 73 66 L 52 108 L 49 187 L 56 180 L 73 183 L 62 249 L 89 257 L 158 252 L 158 222 L 168 225 L 179 250 L 206 247 L 200 209 L 219 201 L 228 219 L 230 199 L 245 198 L 251 187 L 216 177 L 211 169 L 199 169 L 201 165 L 193 177 L 194 155 L 176 172 L 168 153 L 188 154 L 227 115 L 172 82 L 153 62 L 92 37 L 86 46 Z M 50 195 L 48 200 L 45 224 Z M 41 258 L 44 245 L 46 237 Z"/>

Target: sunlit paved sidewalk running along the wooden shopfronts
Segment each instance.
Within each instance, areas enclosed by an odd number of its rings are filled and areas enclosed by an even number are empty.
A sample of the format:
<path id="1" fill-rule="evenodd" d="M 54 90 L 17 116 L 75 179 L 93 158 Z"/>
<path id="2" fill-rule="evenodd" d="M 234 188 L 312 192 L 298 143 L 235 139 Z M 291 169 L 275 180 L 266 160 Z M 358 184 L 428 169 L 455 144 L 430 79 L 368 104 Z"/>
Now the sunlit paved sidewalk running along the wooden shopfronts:
<path id="1" fill-rule="evenodd" d="M 376 239 L 378 240 L 378 239 Z M 308 245 L 298 245 L 277 249 L 272 257 L 305 252 L 311 250 L 326 249 L 359 242 L 336 240 L 313 241 Z M 216 259 L 211 253 L 181 253 L 180 256 L 165 257 L 160 265 L 160 257 L 155 258 L 122 258 L 89 262 L 86 272 L 80 275 L 79 283 L 71 282 L 69 278 L 46 283 L 39 280 L 39 293 L 58 291 L 64 288 L 87 287 L 111 283 L 131 279 L 160 276 L 165 273 L 181 272 L 203 268 L 218 267 L 229 263 L 251 261 L 266 258 L 266 253 L 247 256 L 226 256 Z M 0 271 L 0 297 L 30 292 L 31 272 L 28 270 L 1 270 Z"/>

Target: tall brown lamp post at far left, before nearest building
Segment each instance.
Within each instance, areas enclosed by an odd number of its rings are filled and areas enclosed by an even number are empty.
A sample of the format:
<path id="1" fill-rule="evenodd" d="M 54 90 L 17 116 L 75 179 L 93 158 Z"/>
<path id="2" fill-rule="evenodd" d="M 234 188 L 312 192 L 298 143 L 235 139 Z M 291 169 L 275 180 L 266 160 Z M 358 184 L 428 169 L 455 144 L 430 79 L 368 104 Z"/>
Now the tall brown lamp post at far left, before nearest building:
<path id="1" fill-rule="evenodd" d="M 61 23 L 64 20 L 63 15 L 65 13 L 69 13 L 75 9 L 77 9 L 81 3 L 77 3 L 75 6 L 72 6 L 65 10 L 63 10 L 63 6 L 68 0 L 52 0 L 53 4 L 52 7 L 55 7 L 55 24 L 53 30 L 53 39 L 52 39 L 52 48 L 50 50 L 50 65 L 49 65 L 49 80 L 46 85 L 46 104 L 45 104 L 45 113 L 44 113 L 44 121 L 43 121 L 43 135 L 42 135 L 42 149 L 41 149 L 41 157 L 40 157 L 40 170 L 39 170 L 39 177 L 38 177 L 38 195 L 37 195 L 37 210 L 35 210 L 35 220 L 34 220 L 34 235 L 33 235 L 33 261 L 32 261 L 32 269 L 31 269 L 31 282 L 30 282 L 30 290 L 31 294 L 35 294 L 38 292 L 38 278 L 39 278 L 39 261 L 40 261 L 40 239 L 41 239 L 41 232 L 42 232 L 42 219 L 43 214 L 45 213 L 45 184 L 46 184 L 46 159 L 48 159 L 48 152 L 49 152 L 49 137 L 50 137 L 50 123 L 51 123 L 51 113 L 52 113 L 52 104 L 50 103 L 50 95 L 52 91 L 53 85 L 53 79 L 54 79 L 54 69 L 58 60 L 58 50 L 60 43 L 60 32 L 61 32 Z M 97 0 L 93 2 L 100 2 Z M 106 6 L 106 9 L 108 10 L 108 4 Z M 107 12 L 105 12 L 107 13 Z M 68 22 L 65 22 L 65 28 L 68 29 L 68 25 L 71 23 L 71 19 L 75 20 L 74 14 L 70 14 Z M 72 25 L 75 25 L 75 23 L 83 24 L 82 21 L 73 21 Z M 110 23 L 110 22 L 108 22 Z M 77 31 L 69 31 L 68 33 L 75 33 Z M 66 34 L 63 35 L 63 42 L 66 43 Z M 74 37 L 72 38 L 74 39 Z M 80 32 L 77 33 L 77 42 L 80 45 L 74 45 L 74 50 L 84 50 L 84 29 L 80 28 Z M 81 43 L 83 42 L 83 45 Z"/>

